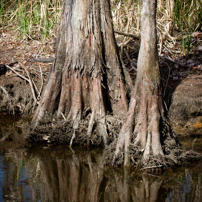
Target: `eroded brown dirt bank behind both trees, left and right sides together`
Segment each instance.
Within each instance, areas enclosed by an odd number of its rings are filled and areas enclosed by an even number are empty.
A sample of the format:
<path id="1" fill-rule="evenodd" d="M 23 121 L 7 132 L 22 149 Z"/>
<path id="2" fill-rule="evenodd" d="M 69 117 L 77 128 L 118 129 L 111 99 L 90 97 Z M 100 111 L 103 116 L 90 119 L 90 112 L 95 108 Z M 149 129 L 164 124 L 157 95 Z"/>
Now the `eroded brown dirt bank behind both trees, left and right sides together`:
<path id="1" fill-rule="evenodd" d="M 10 32 L 0 34 L 0 111 L 6 114 L 32 116 L 51 65 L 51 60 L 45 63 L 36 62 L 33 58 L 54 57 L 54 40 L 42 43 L 17 39 Z M 138 41 L 129 45 L 124 47 L 123 60 L 134 81 Z M 190 54 L 189 57 L 179 54 L 174 56 L 164 49 L 163 55 L 160 56 L 162 93 L 176 134 L 202 133 L 200 47 L 196 47 L 194 54 Z M 111 120 L 109 122 L 111 124 Z M 85 123 L 83 125 L 85 126 Z"/>

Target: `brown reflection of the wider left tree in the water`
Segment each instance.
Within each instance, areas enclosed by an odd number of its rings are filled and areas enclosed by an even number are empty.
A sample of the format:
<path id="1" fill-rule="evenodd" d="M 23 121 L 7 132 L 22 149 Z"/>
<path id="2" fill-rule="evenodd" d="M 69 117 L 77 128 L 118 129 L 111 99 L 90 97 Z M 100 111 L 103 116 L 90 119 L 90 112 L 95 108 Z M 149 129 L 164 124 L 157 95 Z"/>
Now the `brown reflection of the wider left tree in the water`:
<path id="1" fill-rule="evenodd" d="M 103 159 L 96 152 L 69 158 L 40 157 L 45 201 L 99 201 Z"/>

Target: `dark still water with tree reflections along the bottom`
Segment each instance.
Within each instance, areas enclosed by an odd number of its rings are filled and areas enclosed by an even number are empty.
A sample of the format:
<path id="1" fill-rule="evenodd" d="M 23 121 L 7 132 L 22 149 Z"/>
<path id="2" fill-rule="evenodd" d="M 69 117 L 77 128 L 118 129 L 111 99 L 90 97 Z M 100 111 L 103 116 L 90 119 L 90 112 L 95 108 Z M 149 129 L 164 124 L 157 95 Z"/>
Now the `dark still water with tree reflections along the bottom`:
<path id="1" fill-rule="evenodd" d="M 104 166 L 99 149 L 26 148 L 19 127 L 23 121 L 3 118 L 7 141 L 0 142 L 1 202 L 202 201 L 202 162 L 162 174 L 124 172 Z"/>

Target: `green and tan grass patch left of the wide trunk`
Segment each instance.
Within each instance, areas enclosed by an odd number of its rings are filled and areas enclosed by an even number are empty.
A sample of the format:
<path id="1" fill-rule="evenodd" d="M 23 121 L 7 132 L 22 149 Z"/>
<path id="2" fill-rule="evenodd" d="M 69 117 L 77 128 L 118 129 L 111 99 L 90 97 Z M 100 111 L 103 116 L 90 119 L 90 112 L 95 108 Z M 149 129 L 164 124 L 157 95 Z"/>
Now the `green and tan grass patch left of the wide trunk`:
<path id="1" fill-rule="evenodd" d="M 59 22 L 61 1 L 1 1 L 1 26 L 11 26 L 20 37 L 45 39 L 54 36 Z"/>

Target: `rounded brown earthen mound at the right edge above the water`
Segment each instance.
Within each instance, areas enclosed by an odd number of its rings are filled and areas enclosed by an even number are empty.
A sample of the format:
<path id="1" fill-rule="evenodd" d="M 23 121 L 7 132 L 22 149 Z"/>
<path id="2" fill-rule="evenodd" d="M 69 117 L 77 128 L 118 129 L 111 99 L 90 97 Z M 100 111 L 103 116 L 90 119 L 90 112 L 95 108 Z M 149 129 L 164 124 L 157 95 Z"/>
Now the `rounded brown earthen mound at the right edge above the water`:
<path id="1" fill-rule="evenodd" d="M 176 134 L 202 135 L 202 76 L 184 79 L 172 95 L 169 119 Z"/>

